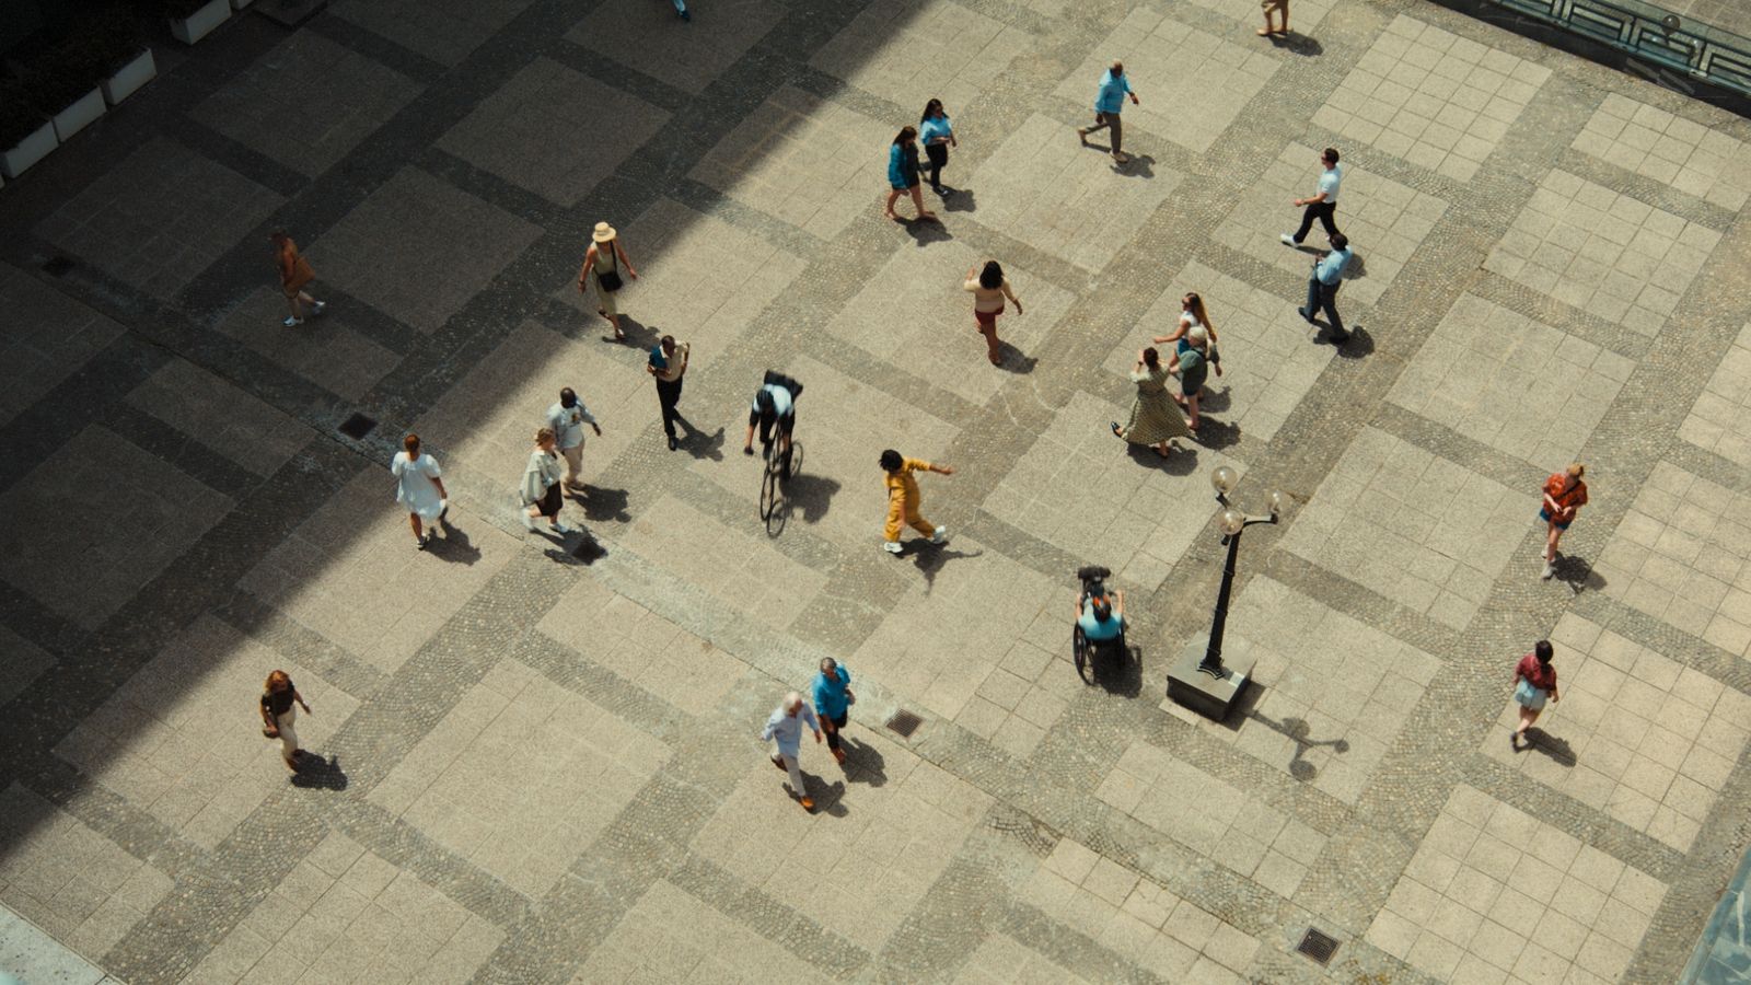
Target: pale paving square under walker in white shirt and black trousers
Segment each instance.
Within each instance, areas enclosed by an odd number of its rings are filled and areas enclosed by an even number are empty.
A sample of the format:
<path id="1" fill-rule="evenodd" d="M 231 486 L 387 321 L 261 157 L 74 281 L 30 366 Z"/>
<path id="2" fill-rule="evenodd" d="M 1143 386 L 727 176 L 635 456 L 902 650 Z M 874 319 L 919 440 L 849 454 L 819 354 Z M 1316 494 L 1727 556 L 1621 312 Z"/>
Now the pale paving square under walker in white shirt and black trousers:
<path id="1" fill-rule="evenodd" d="M 1417 247 L 1441 221 L 1446 202 L 1369 174 L 1366 154 L 1345 147 L 1338 152 L 1343 156 L 1343 186 L 1338 191 L 1336 223 L 1355 251 L 1355 259 L 1345 270 L 1340 305 L 1345 301 L 1371 305 L 1387 293 Z M 1315 223 L 1299 249 L 1285 245 L 1282 235 L 1294 233 L 1301 223 L 1301 209 L 1294 202 L 1317 191 L 1319 156 L 1319 151 L 1303 144 L 1283 147 L 1276 161 L 1240 195 L 1240 202 L 1215 228 L 1215 242 L 1294 273 L 1304 284 L 1313 272 L 1313 261 L 1331 249 L 1326 228 Z M 1294 312 L 1306 303 L 1304 298 L 1306 294 L 1296 298 L 1287 305 L 1289 310 Z M 1308 330 L 1303 328 L 1304 331 Z"/>

